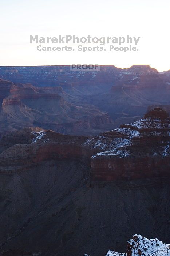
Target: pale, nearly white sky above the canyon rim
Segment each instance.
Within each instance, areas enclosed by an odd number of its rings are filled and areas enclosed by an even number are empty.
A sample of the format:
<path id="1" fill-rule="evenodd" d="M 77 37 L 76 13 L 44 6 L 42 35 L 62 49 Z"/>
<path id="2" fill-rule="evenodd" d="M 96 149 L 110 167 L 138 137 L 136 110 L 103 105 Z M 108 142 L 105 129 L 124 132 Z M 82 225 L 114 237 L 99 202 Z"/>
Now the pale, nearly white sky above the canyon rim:
<path id="1" fill-rule="evenodd" d="M 0 0 L 0 2 L 0 65 L 2 66 L 98 64 L 128 68 L 133 64 L 147 64 L 159 71 L 170 69 L 169 0 Z M 140 39 L 137 45 L 138 52 L 108 50 L 85 53 L 77 50 L 42 52 L 37 51 L 37 44 L 29 43 L 29 35 L 39 35 L 39 37 L 129 35 Z M 64 45 L 66 44 L 52 44 L 52 46 Z M 43 46 L 51 46 L 51 44 Z"/>

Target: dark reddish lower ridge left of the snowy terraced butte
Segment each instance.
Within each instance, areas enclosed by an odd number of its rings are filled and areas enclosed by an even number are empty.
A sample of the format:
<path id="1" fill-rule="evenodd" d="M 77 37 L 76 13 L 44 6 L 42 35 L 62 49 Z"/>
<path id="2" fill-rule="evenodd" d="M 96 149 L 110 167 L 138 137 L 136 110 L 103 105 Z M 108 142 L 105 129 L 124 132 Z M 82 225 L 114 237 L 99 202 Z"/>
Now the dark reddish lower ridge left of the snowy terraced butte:
<path id="1" fill-rule="evenodd" d="M 0 141 L 0 172 L 28 170 L 42 161 L 57 159 L 86 159 L 90 164 L 90 155 L 81 146 L 86 140 L 38 127 L 8 132 Z"/>

